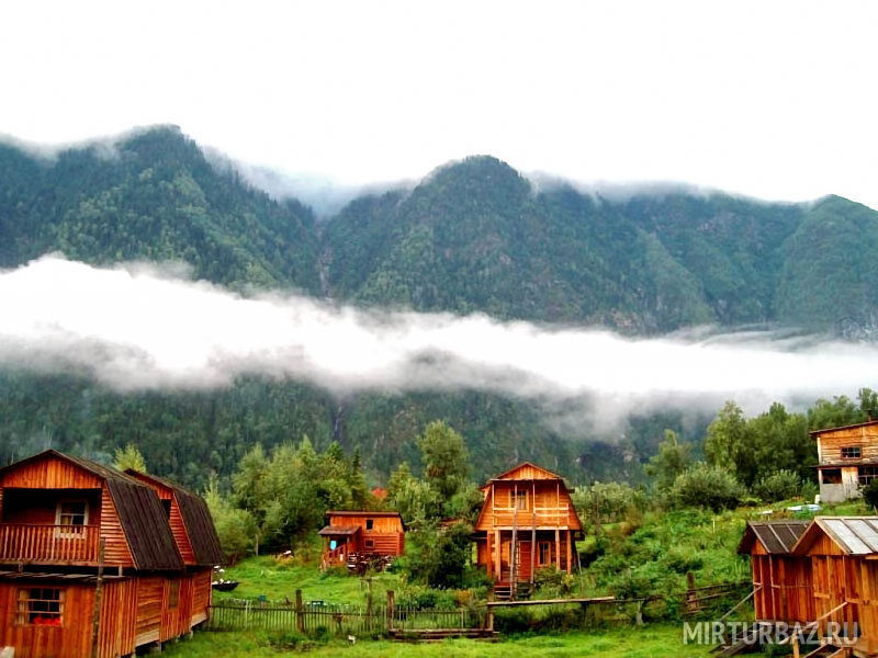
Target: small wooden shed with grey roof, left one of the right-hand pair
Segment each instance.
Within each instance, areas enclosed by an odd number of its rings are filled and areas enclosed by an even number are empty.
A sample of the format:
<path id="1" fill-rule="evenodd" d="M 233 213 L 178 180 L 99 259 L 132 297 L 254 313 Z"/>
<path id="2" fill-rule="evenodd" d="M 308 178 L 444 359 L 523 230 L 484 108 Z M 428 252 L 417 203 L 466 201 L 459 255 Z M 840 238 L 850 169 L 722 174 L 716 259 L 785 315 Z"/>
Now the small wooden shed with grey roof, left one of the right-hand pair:
<path id="1" fill-rule="evenodd" d="M 738 553 L 750 555 L 756 621 L 806 624 L 817 619 L 811 560 L 791 553 L 810 523 L 747 523 Z"/>

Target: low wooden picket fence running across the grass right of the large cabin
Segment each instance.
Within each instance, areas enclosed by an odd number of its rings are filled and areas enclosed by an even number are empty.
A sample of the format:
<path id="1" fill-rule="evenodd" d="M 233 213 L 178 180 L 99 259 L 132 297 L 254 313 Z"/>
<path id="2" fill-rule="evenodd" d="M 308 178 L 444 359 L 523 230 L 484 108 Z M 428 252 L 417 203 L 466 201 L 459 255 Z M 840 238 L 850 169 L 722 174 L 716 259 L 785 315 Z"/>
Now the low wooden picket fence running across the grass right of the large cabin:
<path id="1" fill-rule="evenodd" d="M 417 610 L 394 604 L 387 592 L 386 605 L 345 605 L 303 602 L 301 590 L 295 602 L 229 599 L 211 605 L 209 628 L 216 631 L 266 631 L 304 634 L 357 635 L 372 632 L 417 632 L 430 629 L 483 628 L 487 623 L 484 606 L 457 610 Z"/>

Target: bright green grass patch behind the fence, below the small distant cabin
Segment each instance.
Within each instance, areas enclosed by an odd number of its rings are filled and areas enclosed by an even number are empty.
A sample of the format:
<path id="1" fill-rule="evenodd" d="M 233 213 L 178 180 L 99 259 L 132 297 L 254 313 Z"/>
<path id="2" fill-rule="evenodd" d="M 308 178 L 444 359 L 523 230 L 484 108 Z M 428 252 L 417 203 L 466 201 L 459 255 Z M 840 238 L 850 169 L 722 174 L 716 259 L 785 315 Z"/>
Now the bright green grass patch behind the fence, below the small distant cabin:
<path id="1" fill-rule="evenodd" d="M 215 600 L 236 598 L 254 599 L 264 595 L 269 601 L 295 600 L 295 590 L 302 590 L 305 601 L 330 603 L 364 603 L 368 583 L 356 576 L 322 574 L 316 565 L 293 565 L 273 557 L 251 557 L 228 567 L 224 577 L 240 585 L 232 592 L 214 592 Z M 375 574 L 372 577 L 372 597 L 384 601 L 387 590 L 399 590 L 396 574 Z"/>

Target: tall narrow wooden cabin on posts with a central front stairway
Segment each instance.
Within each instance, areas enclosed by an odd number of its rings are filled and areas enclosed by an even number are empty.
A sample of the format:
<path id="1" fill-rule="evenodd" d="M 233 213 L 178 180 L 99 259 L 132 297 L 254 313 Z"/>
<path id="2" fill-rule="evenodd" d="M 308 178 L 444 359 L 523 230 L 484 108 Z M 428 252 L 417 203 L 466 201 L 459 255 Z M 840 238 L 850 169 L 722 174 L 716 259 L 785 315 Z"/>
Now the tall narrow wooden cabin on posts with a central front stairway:
<path id="1" fill-rule="evenodd" d="M 482 492 L 477 563 L 498 586 L 533 582 L 540 568 L 571 572 L 583 524 L 561 476 L 526 462 L 488 480 Z"/>

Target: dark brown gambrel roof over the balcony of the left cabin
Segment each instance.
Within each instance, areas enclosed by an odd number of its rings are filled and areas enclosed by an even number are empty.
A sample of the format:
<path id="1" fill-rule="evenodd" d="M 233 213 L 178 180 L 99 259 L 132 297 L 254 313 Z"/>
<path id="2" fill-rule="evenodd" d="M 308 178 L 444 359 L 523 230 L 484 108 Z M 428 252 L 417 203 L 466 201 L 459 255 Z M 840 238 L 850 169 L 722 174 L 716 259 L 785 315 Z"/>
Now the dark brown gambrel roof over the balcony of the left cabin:
<path id="1" fill-rule="evenodd" d="M 82 457 L 72 457 L 56 450 L 46 450 L 0 468 L 0 475 L 38 462 L 56 458 L 91 473 L 106 484 L 119 514 L 119 521 L 138 569 L 147 571 L 182 570 L 183 559 L 177 549 L 171 527 L 158 495 L 151 487 L 130 475 Z"/>

